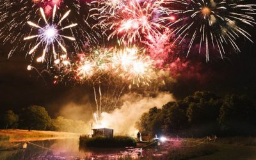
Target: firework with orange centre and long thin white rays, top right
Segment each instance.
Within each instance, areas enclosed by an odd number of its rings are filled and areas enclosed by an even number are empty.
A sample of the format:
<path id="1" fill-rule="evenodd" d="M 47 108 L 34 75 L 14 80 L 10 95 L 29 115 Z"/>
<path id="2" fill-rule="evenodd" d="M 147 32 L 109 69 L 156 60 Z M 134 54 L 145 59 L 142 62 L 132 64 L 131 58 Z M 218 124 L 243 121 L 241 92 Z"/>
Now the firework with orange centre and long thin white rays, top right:
<path id="1" fill-rule="evenodd" d="M 172 6 L 168 12 L 170 17 L 165 21 L 173 28 L 172 33 L 177 36 L 175 41 L 189 39 L 188 54 L 192 45 L 200 44 L 199 52 L 205 47 L 206 61 L 209 61 L 211 45 L 218 48 L 222 57 L 226 44 L 240 51 L 236 43 L 239 36 L 252 41 L 243 27 L 255 24 L 254 4 L 246 4 L 244 0 L 169 0 L 169 3 Z"/>

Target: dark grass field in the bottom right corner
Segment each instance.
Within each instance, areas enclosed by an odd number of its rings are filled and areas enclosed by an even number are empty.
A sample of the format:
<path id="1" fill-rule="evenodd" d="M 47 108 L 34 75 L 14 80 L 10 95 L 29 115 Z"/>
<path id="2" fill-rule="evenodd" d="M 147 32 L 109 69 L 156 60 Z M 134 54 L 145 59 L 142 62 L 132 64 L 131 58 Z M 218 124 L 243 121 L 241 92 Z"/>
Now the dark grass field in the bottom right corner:
<path id="1" fill-rule="evenodd" d="M 192 140 L 192 139 L 189 139 Z M 194 139 L 194 141 L 196 141 Z M 193 143 L 187 145 L 193 145 Z M 215 143 L 202 143 L 191 148 L 170 148 L 164 159 L 170 160 L 255 160 L 256 138 L 219 138 Z"/>

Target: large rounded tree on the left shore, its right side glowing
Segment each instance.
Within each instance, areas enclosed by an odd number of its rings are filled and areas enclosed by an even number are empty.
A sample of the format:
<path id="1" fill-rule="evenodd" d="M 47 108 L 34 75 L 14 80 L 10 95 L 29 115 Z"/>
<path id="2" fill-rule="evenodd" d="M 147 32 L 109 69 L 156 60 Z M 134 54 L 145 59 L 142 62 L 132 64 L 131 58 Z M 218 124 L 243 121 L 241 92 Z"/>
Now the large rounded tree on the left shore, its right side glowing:
<path id="1" fill-rule="evenodd" d="M 20 114 L 21 128 L 45 130 L 51 124 L 51 118 L 44 107 L 23 108 Z"/>

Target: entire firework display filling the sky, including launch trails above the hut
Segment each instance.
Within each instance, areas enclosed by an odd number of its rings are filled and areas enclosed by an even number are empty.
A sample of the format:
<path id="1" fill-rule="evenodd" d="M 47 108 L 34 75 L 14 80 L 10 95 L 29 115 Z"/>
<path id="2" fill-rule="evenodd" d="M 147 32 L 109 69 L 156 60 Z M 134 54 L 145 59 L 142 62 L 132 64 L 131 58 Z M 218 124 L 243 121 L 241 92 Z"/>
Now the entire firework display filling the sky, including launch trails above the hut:
<path id="1" fill-rule="evenodd" d="M 156 72 L 187 66 L 182 51 L 204 52 L 206 61 L 210 52 L 239 52 L 256 24 L 246 0 L 1 0 L 0 13 L 8 57 L 26 51 L 28 70 L 34 58 L 46 63 L 54 84 L 91 84 L 97 121 L 102 106 L 116 106 L 102 87 L 117 82 L 111 95 L 120 97 L 125 87 L 150 86 Z"/>

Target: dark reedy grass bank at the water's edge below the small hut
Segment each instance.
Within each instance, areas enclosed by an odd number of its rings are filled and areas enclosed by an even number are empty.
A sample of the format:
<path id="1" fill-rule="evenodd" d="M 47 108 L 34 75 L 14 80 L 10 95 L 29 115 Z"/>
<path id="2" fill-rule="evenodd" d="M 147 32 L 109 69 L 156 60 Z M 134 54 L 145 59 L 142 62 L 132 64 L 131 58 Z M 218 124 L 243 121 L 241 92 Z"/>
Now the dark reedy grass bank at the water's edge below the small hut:
<path id="1" fill-rule="evenodd" d="M 129 136 L 115 136 L 114 138 L 80 136 L 79 147 L 136 147 L 136 140 Z"/>

